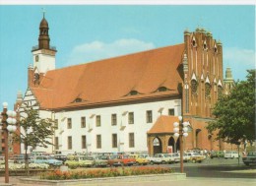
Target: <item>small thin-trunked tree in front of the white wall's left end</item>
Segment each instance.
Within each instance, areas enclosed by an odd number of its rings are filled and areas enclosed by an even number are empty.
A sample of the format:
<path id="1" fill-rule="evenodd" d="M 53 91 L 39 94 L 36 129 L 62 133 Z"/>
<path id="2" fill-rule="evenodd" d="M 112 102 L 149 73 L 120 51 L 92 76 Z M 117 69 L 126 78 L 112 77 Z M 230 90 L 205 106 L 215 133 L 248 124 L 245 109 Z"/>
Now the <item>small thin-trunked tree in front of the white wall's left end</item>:
<path id="1" fill-rule="evenodd" d="M 14 142 L 23 143 L 25 146 L 26 168 L 29 170 L 28 147 L 43 147 L 53 145 L 49 140 L 54 134 L 54 121 L 50 118 L 42 119 L 38 111 L 27 107 L 20 116 L 20 134 L 16 133 L 13 137 Z M 28 171 L 29 173 L 29 171 Z"/>

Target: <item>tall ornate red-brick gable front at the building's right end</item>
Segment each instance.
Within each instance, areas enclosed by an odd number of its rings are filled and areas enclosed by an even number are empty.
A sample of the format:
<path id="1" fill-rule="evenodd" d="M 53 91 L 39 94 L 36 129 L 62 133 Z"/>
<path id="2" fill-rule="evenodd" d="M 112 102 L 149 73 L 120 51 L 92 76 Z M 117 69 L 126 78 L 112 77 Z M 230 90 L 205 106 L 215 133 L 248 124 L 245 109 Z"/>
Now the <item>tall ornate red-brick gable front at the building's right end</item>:
<path id="1" fill-rule="evenodd" d="M 218 97 L 224 93 L 223 44 L 202 28 L 184 31 L 184 43 L 182 115 L 191 126 L 187 141 L 193 148 L 221 149 L 220 142 L 205 127 L 214 117 L 212 110 Z"/>

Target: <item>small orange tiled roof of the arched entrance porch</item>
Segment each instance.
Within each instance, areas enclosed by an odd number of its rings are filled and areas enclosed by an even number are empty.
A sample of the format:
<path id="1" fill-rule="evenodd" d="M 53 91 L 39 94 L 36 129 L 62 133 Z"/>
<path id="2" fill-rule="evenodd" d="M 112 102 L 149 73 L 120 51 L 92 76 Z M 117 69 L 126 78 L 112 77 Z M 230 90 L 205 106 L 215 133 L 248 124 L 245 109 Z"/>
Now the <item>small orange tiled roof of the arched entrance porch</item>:
<path id="1" fill-rule="evenodd" d="M 174 122 L 179 122 L 177 116 L 160 115 L 148 134 L 173 133 Z"/>

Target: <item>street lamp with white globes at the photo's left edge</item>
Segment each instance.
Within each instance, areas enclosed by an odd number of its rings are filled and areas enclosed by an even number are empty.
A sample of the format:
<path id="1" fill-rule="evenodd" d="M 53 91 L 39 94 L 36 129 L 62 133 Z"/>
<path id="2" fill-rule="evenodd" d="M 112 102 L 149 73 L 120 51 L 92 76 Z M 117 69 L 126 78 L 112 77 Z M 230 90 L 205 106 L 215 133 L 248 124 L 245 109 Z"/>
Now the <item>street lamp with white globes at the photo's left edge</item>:
<path id="1" fill-rule="evenodd" d="M 7 110 L 8 103 L 3 103 L 2 120 L 0 125 L 4 131 L 5 140 L 5 183 L 9 183 L 9 167 L 8 167 L 8 132 L 16 131 L 16 112 L 12 110 Z"/>

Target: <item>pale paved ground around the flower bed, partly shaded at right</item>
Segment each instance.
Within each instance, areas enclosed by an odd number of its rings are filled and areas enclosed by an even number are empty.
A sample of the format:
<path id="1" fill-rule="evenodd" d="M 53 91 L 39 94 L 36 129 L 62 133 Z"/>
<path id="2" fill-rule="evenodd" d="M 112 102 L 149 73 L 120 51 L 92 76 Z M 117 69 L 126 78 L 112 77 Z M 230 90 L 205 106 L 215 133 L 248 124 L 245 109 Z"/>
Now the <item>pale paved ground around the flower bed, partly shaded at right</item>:
<path id="1" fill-rule="evenodd" d="M 156 165 L 170 166 L 179 172 L 179 163 Z M 138 181 L 138 182 L 118 182 L 118 186 L 252 186 L 256 185 L 256 166 L 245 166 L 242 161 L 238 164 L 237 159 L 206 159 L 202 163 L 184 163 L 184 171 L 187 174 L 186 180 L 177 181 Z M 0 183 L 4 183 L 4 177 L 0 178 Z M 20 184 L 17 177 L 10 177 L 10 183 L 20 186 L 32 186 L 31 184 Z M 1 185 L 1 184 L 0 184 Z M 2 184 L 4 185 L 4 184 Z M 113 186 L 116 183 L 107 181 L 100 184 L 87 184 L 89 186 Z M 42 185 L 44 186 L 44 185 Z"/>

